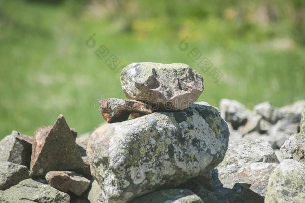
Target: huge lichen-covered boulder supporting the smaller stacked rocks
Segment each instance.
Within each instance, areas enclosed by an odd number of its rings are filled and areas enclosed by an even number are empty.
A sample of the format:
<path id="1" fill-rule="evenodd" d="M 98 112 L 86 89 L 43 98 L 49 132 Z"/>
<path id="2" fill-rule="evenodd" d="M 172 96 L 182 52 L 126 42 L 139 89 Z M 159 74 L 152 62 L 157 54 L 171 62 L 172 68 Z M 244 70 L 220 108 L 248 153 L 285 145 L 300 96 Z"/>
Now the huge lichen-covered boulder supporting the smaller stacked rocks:
<path id="1" fill-rule="evenodd" d="M 104 201 L 125 202 L 211 170 L 223 159 L 228 135 L 216 108 L 195 103 L 103 125 L 90 136 L 87 154 Z"/>

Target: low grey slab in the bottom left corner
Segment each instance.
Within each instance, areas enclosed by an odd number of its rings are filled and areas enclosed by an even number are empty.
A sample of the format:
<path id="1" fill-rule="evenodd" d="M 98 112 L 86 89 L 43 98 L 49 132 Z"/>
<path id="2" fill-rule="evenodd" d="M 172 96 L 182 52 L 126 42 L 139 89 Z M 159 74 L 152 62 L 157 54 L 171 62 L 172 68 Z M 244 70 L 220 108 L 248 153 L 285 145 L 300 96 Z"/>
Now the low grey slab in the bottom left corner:
<path id="1" fill-rule="evenodd" d="M 17 185 L 6 189 L 1 196 L 1 202 L 50 202 L 69 203 L 70 196 L 49 185 L 46 182 L 25 179 Z"/>

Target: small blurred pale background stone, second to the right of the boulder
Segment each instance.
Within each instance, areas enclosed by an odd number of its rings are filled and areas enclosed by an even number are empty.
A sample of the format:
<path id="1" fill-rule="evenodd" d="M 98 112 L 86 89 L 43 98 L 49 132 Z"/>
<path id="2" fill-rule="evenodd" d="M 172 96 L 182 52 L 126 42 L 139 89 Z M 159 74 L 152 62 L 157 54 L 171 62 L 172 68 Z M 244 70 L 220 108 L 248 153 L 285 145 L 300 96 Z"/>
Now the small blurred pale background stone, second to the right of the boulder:
<path id="1" fill-rule="evenodd" d="M 261 115 L 262 118 L 271 124 L 277 122 L 276 108 L 272 106 L 269 102 L 263 102 L 254 106 L 254 111 L 256 114 Z"/>

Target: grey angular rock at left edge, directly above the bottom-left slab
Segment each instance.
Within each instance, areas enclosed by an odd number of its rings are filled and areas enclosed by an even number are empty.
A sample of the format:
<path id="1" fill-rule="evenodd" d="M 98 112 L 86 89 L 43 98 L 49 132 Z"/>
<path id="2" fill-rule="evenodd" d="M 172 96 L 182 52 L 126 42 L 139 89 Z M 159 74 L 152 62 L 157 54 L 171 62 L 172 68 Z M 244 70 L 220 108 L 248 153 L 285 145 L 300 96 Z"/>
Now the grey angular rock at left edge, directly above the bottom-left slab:
<path id="1" fill-rule="evenodd" d="M 21 180 L 28 178 L 26 166 L 0 161 L 0 189 L 5 190 Z"/>

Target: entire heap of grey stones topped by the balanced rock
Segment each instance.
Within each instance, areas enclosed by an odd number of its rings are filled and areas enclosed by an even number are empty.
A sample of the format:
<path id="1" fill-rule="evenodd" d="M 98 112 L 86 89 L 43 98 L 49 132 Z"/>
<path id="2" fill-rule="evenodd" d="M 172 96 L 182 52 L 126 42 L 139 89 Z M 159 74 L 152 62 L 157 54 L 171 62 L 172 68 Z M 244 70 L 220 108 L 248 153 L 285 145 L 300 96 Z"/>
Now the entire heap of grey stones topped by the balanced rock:
<path id="1" fill-rule="evenodd" d="M 203 78 L 188 65 L 133 63 L 121 86 L 127 99 L 102 99 L 107 124 L 92 133 L 77 137 L 59 115 L 33 137 L 3 138 L 0 202 L 304 202 L 305 111 L 279 163 L 264 140 L 229 143 L 229 131 L 256 121 L 226 103 L 228 127 L 217 108 L 195 102 Z M 263 107 L 252 119 L 260 130 L 261 118 L 278 115 Z"/>

